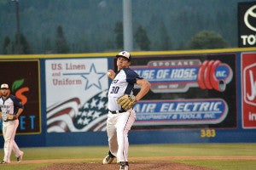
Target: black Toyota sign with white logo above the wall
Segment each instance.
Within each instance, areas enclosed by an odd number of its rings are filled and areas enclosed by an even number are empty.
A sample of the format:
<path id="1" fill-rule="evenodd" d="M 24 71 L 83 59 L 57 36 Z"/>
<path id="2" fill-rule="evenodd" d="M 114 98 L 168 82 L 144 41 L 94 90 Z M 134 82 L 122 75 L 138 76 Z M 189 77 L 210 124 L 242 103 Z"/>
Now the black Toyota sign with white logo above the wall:
<path id="1" fill-rule="evenodd" d="M 238 3 L 238 45 L 256 47 L 256 2 Z"/>

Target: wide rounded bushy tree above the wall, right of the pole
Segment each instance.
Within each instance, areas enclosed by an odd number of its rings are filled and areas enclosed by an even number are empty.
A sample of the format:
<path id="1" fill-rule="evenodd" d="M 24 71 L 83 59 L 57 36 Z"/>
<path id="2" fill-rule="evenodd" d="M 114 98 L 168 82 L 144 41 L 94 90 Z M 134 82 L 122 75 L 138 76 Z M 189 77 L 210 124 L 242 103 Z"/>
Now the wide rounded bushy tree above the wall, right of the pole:
<path id="1" fill-rule="evenodd" d="M 228 43 L 224 38 L 213 31 L 201 31 L 192 37 L 189 42 L 189 49 L 213 49 L 228 48 Z"/>

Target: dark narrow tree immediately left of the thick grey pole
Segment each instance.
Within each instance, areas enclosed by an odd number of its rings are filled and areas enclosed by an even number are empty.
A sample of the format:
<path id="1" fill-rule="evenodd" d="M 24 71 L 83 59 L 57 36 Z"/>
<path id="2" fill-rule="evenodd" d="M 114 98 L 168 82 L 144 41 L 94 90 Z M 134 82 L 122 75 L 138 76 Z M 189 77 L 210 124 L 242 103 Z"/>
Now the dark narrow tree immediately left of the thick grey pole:
<path id="1" fill-rule="evenodd" d="M 124 31 L 123 31 L 123 23 L 121 21 L 116 22 L 114 27 L 115 34 L 115 44 L 116 47 L 121 49 L 124 47 Z"/>

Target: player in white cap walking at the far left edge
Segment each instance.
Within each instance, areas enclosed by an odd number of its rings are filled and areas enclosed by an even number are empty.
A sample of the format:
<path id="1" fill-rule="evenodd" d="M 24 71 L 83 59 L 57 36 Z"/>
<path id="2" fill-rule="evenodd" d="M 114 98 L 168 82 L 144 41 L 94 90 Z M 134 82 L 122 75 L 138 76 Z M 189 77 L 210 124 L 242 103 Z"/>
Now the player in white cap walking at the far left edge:
<path id="1" fill-rule="evenodd" d="M 22 113 L 24 106 L 21 104 L 20 99 L 9 93 L 8 84 L 2 84 L 0 90 L 2 94 L 0 97 L 0 115 L 2 116 L 4 139 L 4 157 L 3 161 L 0 163 L 10 163 L 12 150 L 15 152 L 18 163 L 20 163 L 24 152 L 21 151 L 16 144 L 15 134 L 17 127 L 19 126 L 19 116 Z M 9 116 L 11 116 L 12 119 L 9 119 Z"/>

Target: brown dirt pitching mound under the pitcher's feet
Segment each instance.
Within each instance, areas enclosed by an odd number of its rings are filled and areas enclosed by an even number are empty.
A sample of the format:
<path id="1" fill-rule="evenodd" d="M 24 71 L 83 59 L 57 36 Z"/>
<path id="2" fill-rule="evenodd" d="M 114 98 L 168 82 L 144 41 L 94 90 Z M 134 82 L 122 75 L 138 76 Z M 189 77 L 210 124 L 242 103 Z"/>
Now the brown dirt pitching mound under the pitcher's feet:
<path id="1" fill-rule="evenodd" d="M 63 169 L 93 169 L 93 170 L 113 170 L 119 169 L 119 164 L 102 165 L 101 163 L 55 163 L 47 167 L 41 167 L 37 170 L 63 170 Z M 145 161 L 145 162 L 131 162 L 130 170 L 211 170 L 211 168 L 198 167 L 192 165 L 186 165 L 177 162 L 166 161 Z"/>

